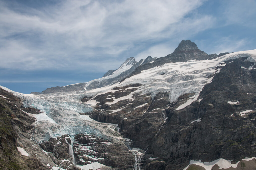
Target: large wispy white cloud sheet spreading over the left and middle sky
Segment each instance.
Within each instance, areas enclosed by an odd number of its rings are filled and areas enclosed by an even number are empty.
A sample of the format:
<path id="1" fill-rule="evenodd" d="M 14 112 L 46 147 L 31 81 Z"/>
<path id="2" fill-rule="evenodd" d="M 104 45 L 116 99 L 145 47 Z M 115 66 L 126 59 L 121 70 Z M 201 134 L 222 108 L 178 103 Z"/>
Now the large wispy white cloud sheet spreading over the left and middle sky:
<path id="1" fill-rule="evenodd" d="M 100 61 L 114 69 L 135 45 L 177 35 L 185 39 L 191 32 L 210 28 L 211 16 L 184 18 L 202 2 L 76 0 L 38 9 L 22 6 L 19 11 L 2 2 L 0 68 L 106 70 Z M 146 46 L 144 52 L 136 47 L 140 51 L 136 58 L 172 52 L 162 44 Z"/>

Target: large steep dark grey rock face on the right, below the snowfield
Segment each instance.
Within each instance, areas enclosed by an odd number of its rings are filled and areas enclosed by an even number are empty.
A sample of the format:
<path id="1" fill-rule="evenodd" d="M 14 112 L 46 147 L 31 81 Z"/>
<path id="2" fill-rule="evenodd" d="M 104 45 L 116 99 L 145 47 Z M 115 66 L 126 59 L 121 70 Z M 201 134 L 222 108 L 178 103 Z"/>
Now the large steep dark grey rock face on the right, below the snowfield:
<path id="1" fill-rule="evenodd" d="M 167 109 L 169 119 L 147 150 L 164 160 L 166 169 L 183 169 L 190 160 L 239 161 L 255 156 L 256 112 L 239 114 L 255 110 L 255 70 L 246 69 L 254 63 L 241 59 L 227 61 L 201 91 L 200 102 L 177 111 L 178 99 Z M 201 121 L 195 121 L 198 119 Z"/>

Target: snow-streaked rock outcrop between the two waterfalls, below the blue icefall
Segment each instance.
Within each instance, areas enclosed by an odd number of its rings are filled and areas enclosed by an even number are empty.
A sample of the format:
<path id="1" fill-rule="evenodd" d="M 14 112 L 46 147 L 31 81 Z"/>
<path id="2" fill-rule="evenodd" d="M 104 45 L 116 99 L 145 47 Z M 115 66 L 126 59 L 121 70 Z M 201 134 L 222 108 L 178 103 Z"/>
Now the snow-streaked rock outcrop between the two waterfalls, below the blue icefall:
<path id="1" fill-rule="evenodd" d="M 98 138 L 93 134 L 77 134 L 74 141 L 76 163 L 87 165 L 99 162 L 118 169 L 132 168 L 134 155 L 122 143 L 113 143 L 107 139 Z"/>

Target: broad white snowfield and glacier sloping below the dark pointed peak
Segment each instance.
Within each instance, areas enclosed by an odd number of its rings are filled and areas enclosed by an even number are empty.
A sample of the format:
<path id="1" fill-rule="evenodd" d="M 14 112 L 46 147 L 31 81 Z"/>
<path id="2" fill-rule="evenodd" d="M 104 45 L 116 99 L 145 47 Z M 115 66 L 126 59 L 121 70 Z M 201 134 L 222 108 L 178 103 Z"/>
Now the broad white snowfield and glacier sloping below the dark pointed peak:
<path id="1" fill-rule="evenodd" d="M 151 92 L 153 96 L 159 92 L 167 92 L 170 94 L 170 101 L 174 101 L 180 95 L 186 93 L 196 93 L 197 95 L 204 85 L 209 83 L 213 78 L 208 77 L 220 70 L 220 68 L 214 68 L 224 66 L 224 61 L 240 57 L 249 57 L 247 59 L 248 61 L 255 62 L 256 49 L 230 53 L 213 60 L 190 60 L 188 62 L 167 63 L 162 67 L 143 70 L 140 74 L 134 75 L 120 84 L 114 84 L 112 86 L 94 90 L 85 90 L 84 92 L 91 96 L 100 92 L 107 93 L 117 86 L 141 83 L 143 86 L 136 92 L 141 91 L 144 94 Z M 90 100 L 87 103 L 90 103 Z"/>

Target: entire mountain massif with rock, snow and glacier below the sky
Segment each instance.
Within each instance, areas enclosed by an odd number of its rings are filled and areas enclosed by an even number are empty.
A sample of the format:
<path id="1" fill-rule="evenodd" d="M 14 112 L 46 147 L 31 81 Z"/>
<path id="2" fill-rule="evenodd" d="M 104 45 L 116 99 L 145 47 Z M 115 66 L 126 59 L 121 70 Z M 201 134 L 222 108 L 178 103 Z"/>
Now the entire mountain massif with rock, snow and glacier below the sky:
<path id="1" fill-rule="evenodd" d="M 90 82 L 1 86 L 0 169 L 256 169 L 255 61 L 183 40 Z"/>

